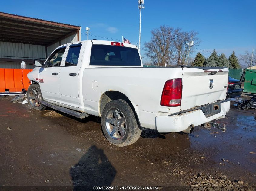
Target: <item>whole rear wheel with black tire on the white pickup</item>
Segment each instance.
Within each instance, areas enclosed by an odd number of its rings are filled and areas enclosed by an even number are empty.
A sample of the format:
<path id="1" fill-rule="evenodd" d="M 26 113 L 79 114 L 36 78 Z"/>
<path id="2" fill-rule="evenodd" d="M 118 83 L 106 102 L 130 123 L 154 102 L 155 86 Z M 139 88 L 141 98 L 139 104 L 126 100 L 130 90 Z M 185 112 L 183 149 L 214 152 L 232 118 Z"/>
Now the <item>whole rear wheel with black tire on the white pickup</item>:
<path id="1" fill-rule="evenodd" d="M 107 140 L 118 147 L 135 143 L 141 135 L 134 112 L 124 100 L 113 100 L 106 104 L 101 126 Z"/>

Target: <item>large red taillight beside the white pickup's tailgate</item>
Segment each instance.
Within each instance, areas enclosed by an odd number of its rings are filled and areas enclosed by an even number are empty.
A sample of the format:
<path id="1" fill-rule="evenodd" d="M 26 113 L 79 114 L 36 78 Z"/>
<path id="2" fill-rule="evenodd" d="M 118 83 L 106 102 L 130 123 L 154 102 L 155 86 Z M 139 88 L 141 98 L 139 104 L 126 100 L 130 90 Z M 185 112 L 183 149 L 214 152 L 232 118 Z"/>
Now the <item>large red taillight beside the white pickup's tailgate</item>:
<path id="1" fill-rule="evenodd" d="M 182 78 L 172 79 L 165 82 L 161 103 L 162 106 L 180 106 L 182 96 Z"/>

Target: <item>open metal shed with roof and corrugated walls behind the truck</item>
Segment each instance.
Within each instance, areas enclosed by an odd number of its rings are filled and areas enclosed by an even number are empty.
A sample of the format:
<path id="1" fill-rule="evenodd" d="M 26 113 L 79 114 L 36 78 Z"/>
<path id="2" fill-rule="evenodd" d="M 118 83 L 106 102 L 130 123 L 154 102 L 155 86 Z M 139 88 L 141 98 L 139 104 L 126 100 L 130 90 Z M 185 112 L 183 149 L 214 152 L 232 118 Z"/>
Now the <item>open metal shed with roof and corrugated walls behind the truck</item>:
<path id="1" fill-rule="evenodd" d="M 0 12 L 0 68 L 33 68 L 65 43 L 81 40 L 81 27 Z"/>

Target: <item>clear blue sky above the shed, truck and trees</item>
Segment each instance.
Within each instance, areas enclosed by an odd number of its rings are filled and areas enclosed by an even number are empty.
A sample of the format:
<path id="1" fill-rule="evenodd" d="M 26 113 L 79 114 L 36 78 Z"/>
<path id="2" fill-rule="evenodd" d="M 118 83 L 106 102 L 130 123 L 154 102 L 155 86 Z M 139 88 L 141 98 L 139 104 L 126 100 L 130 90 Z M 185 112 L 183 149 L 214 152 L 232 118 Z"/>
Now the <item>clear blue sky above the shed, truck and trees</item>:
<path id="1" fill-rule="evenodd" d="M 218 54 L 237 55 L 256 48 L 256 0 L 219 1 L 153 1 L 145 0 L 142 10 L 141 43 L 149 41 L 150 31 L 160 25 L 198 32 L 200 51 L 208 57 L 213 49 Z M 138 45 L 139 9 L 137 0 L 98 1 L 3 1 L 0 11 L 82 27 L 90 27 L 90 39 L 119 39 L 122 35 Z M 208 52 L 207 52 L 208 51 Z M 143 51 L 141 51 L 143 54 Z"/>

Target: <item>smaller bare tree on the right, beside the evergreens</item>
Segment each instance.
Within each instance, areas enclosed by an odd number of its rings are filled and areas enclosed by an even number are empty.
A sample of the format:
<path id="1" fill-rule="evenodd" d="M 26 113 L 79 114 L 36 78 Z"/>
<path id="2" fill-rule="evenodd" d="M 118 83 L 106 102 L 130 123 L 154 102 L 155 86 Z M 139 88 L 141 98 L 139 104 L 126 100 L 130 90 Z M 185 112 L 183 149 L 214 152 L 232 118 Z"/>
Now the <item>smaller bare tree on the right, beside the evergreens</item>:
<path id="1" fill-rule="evenodd" d="M 192 39 L 194 41 L 194 45 L 190 48 L 190 53 L 194 52 L 194 46 L 197 46 L 199 43 L 201 43 L 201 40 L 197 37 L 198 33 L 195 31 L 181 31 L 179 29 L 178 33 L 176 33 L 174 45 L 175 45 L 175 58 L 177 65 L 184 65 L 185 60 L 188 56 L 188 49 L 189 46 L 185 45 L 186 43 L 189 43 Z"/>

